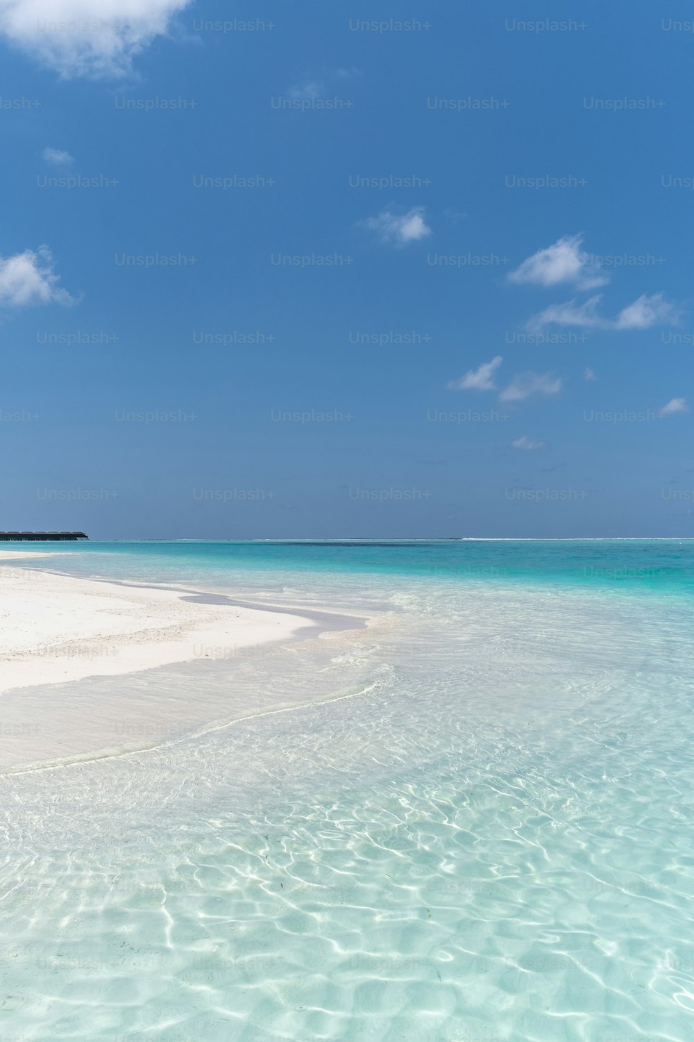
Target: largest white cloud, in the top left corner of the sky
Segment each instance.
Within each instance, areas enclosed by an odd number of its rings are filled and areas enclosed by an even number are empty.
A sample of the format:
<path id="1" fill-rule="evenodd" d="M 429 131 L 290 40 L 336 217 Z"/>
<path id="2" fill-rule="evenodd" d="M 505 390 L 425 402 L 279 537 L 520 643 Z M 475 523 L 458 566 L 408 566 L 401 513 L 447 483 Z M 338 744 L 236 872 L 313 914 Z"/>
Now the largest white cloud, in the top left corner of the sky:
<path id="1" fill-rule="evenodd" d="M 0 0 L 0 33 L 63 78 L 114 77 L 189 0 Z"/>

